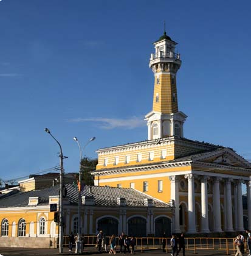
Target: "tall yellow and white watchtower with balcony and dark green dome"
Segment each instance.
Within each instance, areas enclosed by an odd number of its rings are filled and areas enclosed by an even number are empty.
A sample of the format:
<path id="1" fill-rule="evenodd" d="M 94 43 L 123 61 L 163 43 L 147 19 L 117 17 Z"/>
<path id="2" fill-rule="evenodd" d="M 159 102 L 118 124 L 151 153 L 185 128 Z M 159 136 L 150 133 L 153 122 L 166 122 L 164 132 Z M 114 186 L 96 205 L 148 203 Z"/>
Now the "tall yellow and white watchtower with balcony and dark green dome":
<path id="1" fill-rule="evenodd" d="M 170 136 L 183 137 L 183 124 L 187 116 L 178 110 L 176 73 L 181 66 L 180 54 L 175 52 L 176 42 L 167 32 L 154 42 L 149 66 L 154 73 L 153 110 L 145 116 L 148 140 Z"/>

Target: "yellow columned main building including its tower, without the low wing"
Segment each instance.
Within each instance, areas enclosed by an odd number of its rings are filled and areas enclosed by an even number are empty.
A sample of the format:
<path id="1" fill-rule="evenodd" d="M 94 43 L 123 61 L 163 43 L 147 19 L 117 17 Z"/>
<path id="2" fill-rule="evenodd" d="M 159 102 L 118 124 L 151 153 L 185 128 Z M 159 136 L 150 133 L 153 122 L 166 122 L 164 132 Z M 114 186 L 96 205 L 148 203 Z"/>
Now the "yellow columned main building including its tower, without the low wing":
<path id="1" fill-rule="evenodd" d="M 145 116 L 148 140 L 98 149 L 95 185 L 134 188 L 173 202 L 174 233 L 244 230 L 241 190 L 251 165 L 233 149 L 184 138 L 187 115 L 178 108 L 181 55 L 175 52 L 176 44 L 166 32 L 154 42 L 149 63 L 153 108 Z M 247 189 L 251 209 L 250 202 Z M 245 226 L 251 229 L 251 211 L 248 215 Z"/>

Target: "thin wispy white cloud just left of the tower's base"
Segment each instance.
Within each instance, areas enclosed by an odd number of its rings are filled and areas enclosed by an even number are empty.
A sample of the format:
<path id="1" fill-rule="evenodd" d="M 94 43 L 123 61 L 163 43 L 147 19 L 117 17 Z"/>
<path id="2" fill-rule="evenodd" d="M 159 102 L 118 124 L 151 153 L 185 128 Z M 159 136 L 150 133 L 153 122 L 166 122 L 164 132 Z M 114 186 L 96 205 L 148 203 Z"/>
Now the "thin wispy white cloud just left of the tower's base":
<path id="1" fill-rule="evenodd" d="M 146 125 L 143 117 L 133 116 L 128 119 L 120 118 L 75 118 L 69 119 L 69 122 L 81 123 L 81 122 L 96 122 L 100 123 L 101 129 L 114 129 L 114 128 L 124 128 L 124 129 L 134 129 L 137 127 L 143 127 Z"/>

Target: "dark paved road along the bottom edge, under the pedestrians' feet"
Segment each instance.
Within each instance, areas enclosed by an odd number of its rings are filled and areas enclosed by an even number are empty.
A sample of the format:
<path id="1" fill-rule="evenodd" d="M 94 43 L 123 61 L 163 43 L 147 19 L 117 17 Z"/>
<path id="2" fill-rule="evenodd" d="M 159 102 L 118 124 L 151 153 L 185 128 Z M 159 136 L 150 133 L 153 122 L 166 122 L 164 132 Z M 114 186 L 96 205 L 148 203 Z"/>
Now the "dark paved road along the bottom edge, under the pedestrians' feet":
<path id="1" fill-rule="evenodd" d="M 97 249 L 88 247 L 87 249 L 84 250 L 84 255 L 109 255 L 107 253 L 103 254 L 97 254 L 96 252 Z M 47 255 L 59 255 L 58 249 L 28 249 L 28 248 L 8 248 L 8 247 L 0 247 L 0 254 L 3 256 L 47 256 Z M 73 252 L 69 252 L 67 248 L 64 248 L 64 255 L 74 255 Z M 119 254 L 117 255 L 124 255 L 124 254 Z M 129 254 L 127 254 L 129 255 Z M 136 255 L 154 255 L 154 256 L 159 256 L 159 255 L 168 255 L 170 256 L 171 253 L 170 251 L 168 254 L 165 254 L 162 252 L 162 250 L 148 250 L 144 252 L 136 251 Z M 182 256 L 182 254 L 179 254 Z M 191 256 L 194 255 L 193 251 L 188 251 L 186 252 L 186 256 Z M 196 256 L 218 256 L 218 255 L 225 255 L 225 251 L 219 251 L 219 250 L 197 250 Z M 233 255 L 233 254 L 232 254 Z"/>

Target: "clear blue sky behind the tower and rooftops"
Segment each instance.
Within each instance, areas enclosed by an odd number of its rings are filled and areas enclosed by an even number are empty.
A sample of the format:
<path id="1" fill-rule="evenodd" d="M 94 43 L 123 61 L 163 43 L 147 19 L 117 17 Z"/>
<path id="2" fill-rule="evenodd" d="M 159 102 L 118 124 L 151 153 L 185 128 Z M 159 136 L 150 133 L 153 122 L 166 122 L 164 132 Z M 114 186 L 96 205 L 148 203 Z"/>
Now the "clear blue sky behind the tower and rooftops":
<path id="1" fill-rule="evenodd" d="M 57 166 L 147 138 L 153 41 L 179 43 L 179 109 L 184 135 L 251 159 L 250 1 L 0 1 L 0 177 Z"/>

